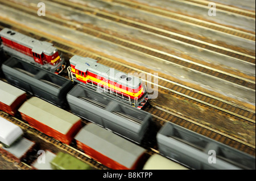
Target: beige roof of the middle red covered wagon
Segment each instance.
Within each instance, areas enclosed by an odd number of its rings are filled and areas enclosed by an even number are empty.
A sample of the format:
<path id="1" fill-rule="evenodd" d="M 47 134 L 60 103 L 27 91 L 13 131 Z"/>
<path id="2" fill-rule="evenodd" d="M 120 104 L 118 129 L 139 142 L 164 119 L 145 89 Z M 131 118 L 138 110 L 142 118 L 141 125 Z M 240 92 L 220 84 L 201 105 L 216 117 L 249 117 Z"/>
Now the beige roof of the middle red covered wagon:
<path id="1" fill-rule="evenodd" d="M 80 117 L 36 97 L 28 99 L 18 111 L 62 134 L 67 134 L 80 120 Z"/>

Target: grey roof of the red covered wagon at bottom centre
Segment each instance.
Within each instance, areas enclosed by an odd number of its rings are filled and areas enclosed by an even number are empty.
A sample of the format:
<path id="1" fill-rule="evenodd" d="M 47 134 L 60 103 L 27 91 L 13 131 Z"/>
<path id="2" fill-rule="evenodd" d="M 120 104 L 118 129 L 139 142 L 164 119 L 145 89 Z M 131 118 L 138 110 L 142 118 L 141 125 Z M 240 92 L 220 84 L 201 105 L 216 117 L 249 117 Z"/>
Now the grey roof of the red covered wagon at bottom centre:
<path id="1" fill-rule="evenodd" d="M 141 146 L 93 123 L 83 127 L 75 139 L 127 168 L 131 168 L 146 151 Z"/>

